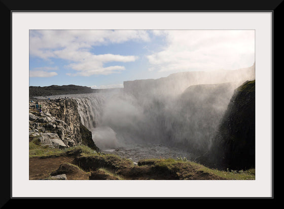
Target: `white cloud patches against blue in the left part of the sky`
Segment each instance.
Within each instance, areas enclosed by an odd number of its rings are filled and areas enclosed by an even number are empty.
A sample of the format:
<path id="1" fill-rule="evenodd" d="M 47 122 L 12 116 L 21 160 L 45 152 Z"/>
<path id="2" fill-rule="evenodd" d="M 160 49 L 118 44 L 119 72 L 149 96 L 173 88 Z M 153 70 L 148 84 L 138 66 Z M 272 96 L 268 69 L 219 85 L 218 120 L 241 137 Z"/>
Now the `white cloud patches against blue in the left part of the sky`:
<path id="1" fill-rule="evenodd" d="M 124 66 L 103 67 L 108 62 L 133 62 L 135 56 L 113 54 L 94 55 L 92 47 L 123 43 L 128 40 L 148 41 L 149 34 L 144 30 L 30 30 L 30 56 L 45 60 L 59 58 L 69 61 L 66 67 L 80 71 L 69 75 L 90 76 L 111 74 L 124 70 Z"/>

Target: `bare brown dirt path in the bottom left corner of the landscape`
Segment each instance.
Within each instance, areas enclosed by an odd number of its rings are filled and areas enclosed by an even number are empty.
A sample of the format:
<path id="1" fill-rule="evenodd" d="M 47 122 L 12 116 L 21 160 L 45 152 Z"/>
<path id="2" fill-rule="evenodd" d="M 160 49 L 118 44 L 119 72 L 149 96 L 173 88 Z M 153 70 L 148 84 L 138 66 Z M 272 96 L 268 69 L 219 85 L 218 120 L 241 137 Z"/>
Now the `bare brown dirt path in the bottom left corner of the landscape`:
<path id="1" fill-rule="evenodd" d="M 46 179 L 52 171 L 59 168 L 62 163 L 72 163 L 74 157 L 61 156 L 50 158 L 29 158 L 29 180 Z M 90 173 L 80 171 L 66 174 L 67 180 L 89 180 Z"/>

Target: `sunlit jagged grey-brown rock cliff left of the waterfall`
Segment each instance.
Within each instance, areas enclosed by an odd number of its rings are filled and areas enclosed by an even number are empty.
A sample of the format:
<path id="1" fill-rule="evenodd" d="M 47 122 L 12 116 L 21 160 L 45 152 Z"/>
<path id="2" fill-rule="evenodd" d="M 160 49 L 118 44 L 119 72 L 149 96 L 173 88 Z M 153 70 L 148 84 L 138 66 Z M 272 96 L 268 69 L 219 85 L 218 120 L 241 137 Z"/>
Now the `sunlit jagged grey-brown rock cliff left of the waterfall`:
<path id="1" fill-rule="evenodd" d="M 37 103 L 41 105 L 41 112 L 36 109 Z M 83 144 L 99 150 L 92 140 L 92 133 L 83 126 L 73 99 L 30 101 L 29 141 L 32 140 L 54 148 Z"/>

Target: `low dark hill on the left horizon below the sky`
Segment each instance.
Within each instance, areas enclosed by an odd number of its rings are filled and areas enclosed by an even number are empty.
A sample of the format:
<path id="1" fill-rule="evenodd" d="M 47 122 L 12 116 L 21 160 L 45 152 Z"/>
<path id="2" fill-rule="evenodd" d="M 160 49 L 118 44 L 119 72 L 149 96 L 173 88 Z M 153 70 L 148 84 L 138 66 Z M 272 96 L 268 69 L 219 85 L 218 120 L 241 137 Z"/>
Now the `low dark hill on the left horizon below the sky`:
<path id="1" fill-rule="evenodd" d="M 29 98 L 51 95 L 66 95 L 66 94 L 90 94 L 96 92 L 112 91 L 114 89 L 91 89 L 90 87 L 76 85 L 52 85 L 48 87 L 29 87 Z"/>

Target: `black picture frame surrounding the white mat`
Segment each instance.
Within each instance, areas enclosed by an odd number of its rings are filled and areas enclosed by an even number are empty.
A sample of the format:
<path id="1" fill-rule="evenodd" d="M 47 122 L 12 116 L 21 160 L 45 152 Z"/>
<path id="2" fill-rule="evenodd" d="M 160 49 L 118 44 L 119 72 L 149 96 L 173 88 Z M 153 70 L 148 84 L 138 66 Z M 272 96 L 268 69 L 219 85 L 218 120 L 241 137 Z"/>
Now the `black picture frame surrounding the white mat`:
<path id="1" fill-rule="evenodd" d="M 277 1 L 195 1 L 194 3 L 189 3 L 187 2 L 184 3 L 177 3 L 175 2 L 174 4 L 171 4 L 170 2 L 165 2 L 163 5 L 153 5 L 151 8 L 149 8 L 149 4 L 147 2 L 144 2 L 144 5 L 141 6 L 140 4 L 138 5 L 129 5 L 128 9 L 127 6 L 125 6 L 122 3 L 116 2 L 112 3 L 111 5 L 105 4 L 105 5 L 96 5 L 92 1 L 80 1 L 78 2 L 69 2 L 66 4 L 66 1 L 48 1 L 47 4 L 44 4 L 43 2 L 39 1 L 9 1 L 9 0 L 1 0 L 0 1 L 0 6 L 1 6 L 1 18 L 3 21 L 3 34 L 6 38 L 4 45 L 4 49 L 7 49 L 10 53 L 7 51 L 4 53 L 4 59 L 7 64 L 7 68 L 10 66 L 10 74 L 8 73 L 7 76 L 10 76 L 10 102 L 11 102 L 11 111 L 10 111 L 10 141 L 8 139 L 2 140 L 3 145 L 2 148 L 3 150 L 1 151 L 1 159 L 2 160 L 2 168 L 5 170 L 5 172 L 1 172 L 1 191 L 2 195 L 0 197 L 0 207 L 2 208 L 11 208 L 16 206 L 18 203 L 23 203 L 24 205 L 32 204 L 32 205 L 41 205 L 42 203 L 45 202 L 50 202 L 50 198 L 12 198 L 11 194 L 11 180 L 12 180 L 12 165 L 11 165 L 11 141 L 12 141 L 12 66 L 11 66 L 11 59 L 12 59 L 12 22 L 11 22 L 11 17 L 12 17 L 12 12 L 13 11 L 22 11 L 22 12 L 57 12 L 57 11 L 63 11 L 63 12 L 68 12 L 68 11 L 83 11 L 83 12 L 88 12 L 88 11 L 97 11 L 97 12 L 107 12 L 107 11 L 115 11 L 115 12 L 121 12 L 121 11 L 126 11 L 126 12 L 165 12 L 165 11 L 175 11 L 175 12 L 272 12 L 272 148 L 273 148 L 273 156 L 272 156 L 272 197 L 271 198 L 52 198 L 52 201 L 54 200 L 59 200 L 60 202 L 68 202 L 69 205 L 75 205 L 75 203 L 81 201 L 81 202 L 91 202 L 91 203 L 98 203 L 98 201 L 109 201 L 107 199 L 113 199 L 115 201 L 118 200 L 135 200 L 139 202 L 145 202 L 147 203 L 146 200 L 162 200 L 163 202 L 167 202 L 168 200 L 189 200 L 189 201 L 201 201 L 201 199 L 206 199 L 206 200 L 220 200 L 222 201 L 225 200 L 234 200 L 234 199 L 243 199 L 243 200 L 250 200 L 250 201 L 275 201 L 275 191 L 276 188 L 274 187 L 274 68 L 275 66 L 279 66 L 280 64 L 280 56 L 281 53 L 276 53 L 279 52 L 280 49 L 283 46 L 283 38 L 281 36 L 281 23 L 283 19 L 283 0 L 277 0 Z M 8 32 L 10 31 L 10 32 Z M 274 44 L 275 43 L 275 44 Z M 10 62 L 9 62 L 10 61 Z M 9 64 L 8 64 L 9 62 Z M 8 94 L 8 91 L 7 91 Z M 8 111 L 7 111 L 8 112 Z M 5 149 L 4 149 L 5 147 Z M 276 185 L 275 185 L 276 186 Z M 65 201 L 66 200 L 66 201 Z M 79 200 L 79 201 L 78 201 Z M 167 201 L 166 201 L 167 200 Z M 203 201 L 203 200 L 202 200 Z M 37 202 L 41 202 L 41 204 L 38 204 Z M 81 203 L 79 203 L 80 205 Z M 24 206 L 21 205 L 21 206 Z M 42 204 L 43 205 L 43 204 Z M 66 205 L 67 206 L 67 205 Z"/>

